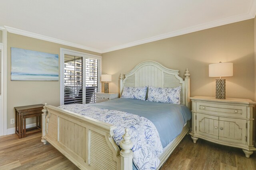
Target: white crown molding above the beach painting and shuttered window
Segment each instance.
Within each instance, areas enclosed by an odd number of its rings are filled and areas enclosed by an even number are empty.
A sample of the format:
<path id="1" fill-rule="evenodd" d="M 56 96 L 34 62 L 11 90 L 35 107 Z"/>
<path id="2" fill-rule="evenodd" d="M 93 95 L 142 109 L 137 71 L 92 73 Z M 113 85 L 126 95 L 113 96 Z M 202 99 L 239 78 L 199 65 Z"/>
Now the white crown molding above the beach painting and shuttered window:
<path id="1" fill-rule="evenodd" d="M 32 37 L 32 38 L 36 38 L 36 39 L 42 39 L 44 41 L 50 41 L 50 42 L 58 43 L 58 44 L 62 44 L 62 45 L 68 45 L 70 47 L 76 47 L 76 48 L 79 48 L 79 49 L 84 49 L 84 50 L 88 50 L 88 51 L 92 51 L 92 52 L 96 52 L 96 53 L 102 53 L 102 51 L 100 49 L 94 49 L 94 48 L 87 47 L 87 46 L 84 46 L 84 45 L 79 45 L 79 44 L 76 44 L 76 43 L 71 43 L 71 42 L 68 42 L 68 41 L 61 40 L 61 39 L 47 37 L 45 35 L 40 35 L 40 34 L 37 34 L 37 33 L 32 33 L 32 32 L 28 32 L 28 31 L 24 31 L 24 30 L 21 30 L 21 29 L 8 27 L 8 26 L 4 26 L 4 27 L 10 33 L 15 33 L 15 34 L 18 34 L 18 35 L 24 35 L 24 36 Z"/>

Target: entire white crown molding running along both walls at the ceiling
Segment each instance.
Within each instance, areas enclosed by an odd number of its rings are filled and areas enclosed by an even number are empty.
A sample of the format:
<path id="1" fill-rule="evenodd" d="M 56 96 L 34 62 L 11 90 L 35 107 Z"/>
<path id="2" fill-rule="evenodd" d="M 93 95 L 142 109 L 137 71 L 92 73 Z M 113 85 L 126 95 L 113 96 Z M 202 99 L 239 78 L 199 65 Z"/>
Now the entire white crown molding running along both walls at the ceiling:
<path id="1" fill-rule="evenodd" d="M 233 16 L 233 17 L 230 17 L 230 18 L 224 18 L 224 19 L 221 19 L 221 20 L 216 20 L 216 21 L 212 21 L 212 22 L 208 22 L 208 23 L 203 23 L 203 24 L 192 26 L 192 27 L 187 27 L 187 28 L 184 28 L 184 29 L 180 29 L 178 31 L 172 31 L 172 32 L 169 32 L 169 33 L 164 33 L 164 34 L 157 35 L 157 36 L 154 36 L 154 37 L 149 37 L 149 38 L 146 38 L 146 39 L 134 41 L 134 42 L 131 42 L 131 43 L 126 43 L 126 44 L 123 44 L 123 45 L 118 45 L 118 46 L 115 46 L 115 47 L 110 47 L 108 49 L 103 49 L 103 50 L 94 49 L 94 48 L 87 47 L 87 46 L 84 46 L 84 45 L 79 45 L 79 44 L 76 44 L 76 43 L 71 43 L 71 42 L 68 42 L 68 41 L 64 41 L 64 40 L 60 40 L 60 39 L 56 39 L 56 38 L 52 38 L 52 37 L 47 37 L 47 36 L 44 36 L 44 35 L 31 33 L 31 32 L 28 32 L 28 31 L 12 28 L 12 27 L 8 27 L 8 26 L 4 26 L 4 27 L 0 26 L 0 29 L 6 28 L 7 31 L 10 32 L 10 33 L 24 35 L 24 36 L 32 37 L 32 38 L 36 38 L 36 39 L 42 39 L 42 40 L 45 40 L 45 41 L 50 41 L 50 42 L 58 43 L 58 44 L 62 44 L 62 45 L 68 45 L 70 47 L 76 47 L 76 48 L 79 48 L 79 49 L 93 51 L 93 52 L 96 52 L 96 53 L 108 53 L 108 52 L 111 52 L 111 51 L 116 51 L 116 50 L 125 49 L 125 48 L 128 48 L 128 47 L 133 47 L 133 46 L 136 46 L 136 45 L 150 43 L 150 42 L 158 41 L 158 40 L 161 40 L 161 39 L 176 37 L 178 35 L 184 35 L 184 34 L 187 34 L 187 33 L 192 33 L 192 32 L 201 31 L 201 30 L 204 30 L 204 29 L 218 27 L 218 26 L 221 26 L 221 25 L 229 24 L 229 23 L 239 22 L 239 21 L 243 21 L 243 20 L 249 20 L 249 19 L 254 18 L 255 15 L 256 15 L 256 1 L 252 0 L 250 8 L 248 9 L 248 12 L 246 14 Z"/>

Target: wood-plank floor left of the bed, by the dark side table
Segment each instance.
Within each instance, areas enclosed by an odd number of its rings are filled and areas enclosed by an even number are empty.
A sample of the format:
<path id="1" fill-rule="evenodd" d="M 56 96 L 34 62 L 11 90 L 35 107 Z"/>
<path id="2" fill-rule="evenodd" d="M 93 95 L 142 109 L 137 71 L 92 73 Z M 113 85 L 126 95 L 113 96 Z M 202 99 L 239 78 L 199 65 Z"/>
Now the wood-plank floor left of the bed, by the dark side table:
<path id="1" fill-rule="evenodd" d="M 52 145 L 43 145 L 41 136 L 0 137 L 0 170 L 79 170 Z"/>

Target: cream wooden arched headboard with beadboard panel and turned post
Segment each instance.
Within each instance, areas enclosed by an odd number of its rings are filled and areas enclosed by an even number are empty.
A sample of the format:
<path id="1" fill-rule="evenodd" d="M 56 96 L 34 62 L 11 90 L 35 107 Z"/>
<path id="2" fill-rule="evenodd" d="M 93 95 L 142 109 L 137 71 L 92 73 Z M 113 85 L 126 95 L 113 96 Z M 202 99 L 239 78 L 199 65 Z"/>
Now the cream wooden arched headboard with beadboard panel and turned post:
<path id="1" fill-rule="evenodd" d="M 174 88 L 181 86 L 180 102 L 190 107 L 190 74 L 186 69 L 185 80 L 179 76 L 180 70 L 166 68 L 155 61 L 144 61 L 135 66 L 130 72 L 120 74 L 120 96 L 123 87 L 153 86 Z M 124 78 L 125 76 L 125 78 Z"/>

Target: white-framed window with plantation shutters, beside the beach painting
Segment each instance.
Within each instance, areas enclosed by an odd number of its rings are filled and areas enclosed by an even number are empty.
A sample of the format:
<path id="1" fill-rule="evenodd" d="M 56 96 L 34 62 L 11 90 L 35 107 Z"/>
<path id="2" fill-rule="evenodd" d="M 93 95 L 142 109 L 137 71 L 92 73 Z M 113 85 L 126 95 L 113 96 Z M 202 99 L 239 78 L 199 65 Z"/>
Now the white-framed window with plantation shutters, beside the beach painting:
<path id="1" fill-rule="evenodd" d="M 60 105 L 95 103 L 95 93 L 100 92 L 101 86 L 101 57 L 80 52 L 69 54 L 66 50 L 63 51 Z"/>

